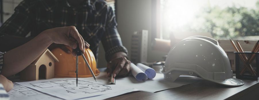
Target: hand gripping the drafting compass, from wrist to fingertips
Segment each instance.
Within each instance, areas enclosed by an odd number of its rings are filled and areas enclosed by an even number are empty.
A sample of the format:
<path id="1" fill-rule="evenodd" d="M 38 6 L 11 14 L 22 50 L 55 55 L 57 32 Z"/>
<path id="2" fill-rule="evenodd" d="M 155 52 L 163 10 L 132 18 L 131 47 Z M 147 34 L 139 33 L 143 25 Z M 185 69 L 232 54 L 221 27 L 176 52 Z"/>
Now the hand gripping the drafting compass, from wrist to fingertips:
<path id="1" fill-rule="evenodd" d="M 78 33 L 78 30 L 74 26 L 48 29 L 43 31 L 42 34 L 47 34 L 52 43 L 68 45 L 73 49 L 76 49 L 77 42 L 82 53 L 84 54 L 85 52 L 84 49 L 86 48 L 87 44 L 85 44 L 83 37 Z M 73 55 L 75 55 L 75 52 Z"/>

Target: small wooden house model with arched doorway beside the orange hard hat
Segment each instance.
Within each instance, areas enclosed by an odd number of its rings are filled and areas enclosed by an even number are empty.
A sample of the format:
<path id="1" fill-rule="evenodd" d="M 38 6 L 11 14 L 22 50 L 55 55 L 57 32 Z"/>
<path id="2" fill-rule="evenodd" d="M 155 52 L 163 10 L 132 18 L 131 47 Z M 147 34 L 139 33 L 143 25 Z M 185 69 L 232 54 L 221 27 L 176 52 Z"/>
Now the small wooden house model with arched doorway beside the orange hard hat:
<path id="1" fill-rule="evenodd" d="M 46 49 L 35 61 L 21 71 L 21 79 L 34 81 L 54 78 L 55 62 L 59 62 L 59 60 L 49 49 Z"/>

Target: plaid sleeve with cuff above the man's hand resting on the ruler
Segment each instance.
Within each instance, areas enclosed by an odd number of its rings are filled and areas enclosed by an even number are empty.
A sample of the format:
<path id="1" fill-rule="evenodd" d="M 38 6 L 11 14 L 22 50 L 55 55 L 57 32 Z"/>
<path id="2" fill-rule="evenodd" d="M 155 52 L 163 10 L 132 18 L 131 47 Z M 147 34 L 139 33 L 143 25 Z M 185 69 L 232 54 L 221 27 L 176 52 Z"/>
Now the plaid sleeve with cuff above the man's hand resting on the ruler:
<path id="1" fill-rule="evenodd" d="M 103 47 L 105 49 L 105 59 L 109 61 L 114 53 L 128 53 L 127 49 L 122 45 L 121 37 L 117 31 L 117 22 L 115 14 L 111 7 L 107 7 L 107 22 L 105 26 L 105 36 L 102 38 Z"/>

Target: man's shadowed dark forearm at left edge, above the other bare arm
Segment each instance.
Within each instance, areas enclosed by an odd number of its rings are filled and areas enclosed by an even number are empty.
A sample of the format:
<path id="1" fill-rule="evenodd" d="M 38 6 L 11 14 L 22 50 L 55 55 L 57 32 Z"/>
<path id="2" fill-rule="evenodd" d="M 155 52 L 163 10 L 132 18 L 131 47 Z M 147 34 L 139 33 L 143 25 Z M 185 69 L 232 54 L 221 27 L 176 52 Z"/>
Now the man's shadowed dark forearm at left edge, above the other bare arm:
<path id="1" fill-rule="evenodd" d="M 14 49 L 16 47 L 19 47 L 23 45 L 24 43 L 27 43 L 30 41 L 33 37 L 18 37 L 13 35 L 5 35 L 0 38 L 0 48 L 1 52 L 9 51 L 11 49 Z"/>

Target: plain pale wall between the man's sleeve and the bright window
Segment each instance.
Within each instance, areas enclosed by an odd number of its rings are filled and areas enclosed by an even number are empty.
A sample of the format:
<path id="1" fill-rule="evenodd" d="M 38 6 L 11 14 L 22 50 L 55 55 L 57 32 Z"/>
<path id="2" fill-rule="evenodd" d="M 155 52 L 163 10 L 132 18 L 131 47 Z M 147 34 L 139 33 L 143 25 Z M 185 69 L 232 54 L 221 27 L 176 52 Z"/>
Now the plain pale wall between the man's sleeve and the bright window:
<path id="1" fill-rule="evenodd" d="M 118 31 L 123 45 L 131 53 L 131 35 L 134 31 L 148 30 L 148 62 L 162 60 L 167 53 L 153 51 L 151 47 L 152 0 L 117 0 Z"/>

